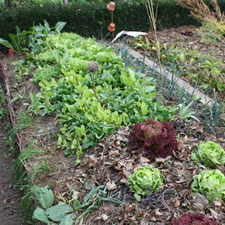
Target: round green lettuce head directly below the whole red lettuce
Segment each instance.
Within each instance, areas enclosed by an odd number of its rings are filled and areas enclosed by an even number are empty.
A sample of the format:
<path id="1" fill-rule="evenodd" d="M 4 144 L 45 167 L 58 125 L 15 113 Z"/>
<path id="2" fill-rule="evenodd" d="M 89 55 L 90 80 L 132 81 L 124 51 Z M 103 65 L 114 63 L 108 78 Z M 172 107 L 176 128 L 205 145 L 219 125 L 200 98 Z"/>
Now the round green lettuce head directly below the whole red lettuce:
<path id="1" fill-rule="evenodd" d="M 129 177 L 130 190 L 135 192 L 134 197 L 140 201 L 141 195 L 146 196 L 149 192 L 155 192 L 163 186 L 163 175 L 159 169 L 150 165 L 140 167 Z"/>

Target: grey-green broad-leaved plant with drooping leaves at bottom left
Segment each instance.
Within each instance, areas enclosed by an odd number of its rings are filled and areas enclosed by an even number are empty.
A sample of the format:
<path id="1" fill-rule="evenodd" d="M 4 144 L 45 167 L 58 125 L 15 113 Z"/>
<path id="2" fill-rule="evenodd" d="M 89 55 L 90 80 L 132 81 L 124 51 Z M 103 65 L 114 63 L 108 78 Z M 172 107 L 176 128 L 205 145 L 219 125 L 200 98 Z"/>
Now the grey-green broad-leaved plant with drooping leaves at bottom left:
<path id="1" fill-rule="evenodd" d="M 107 197 L 105 185 L 100 185 L 92 189 L 87 195 L 84 196 L 81 203 L 78 199 L 73 199 L 73 207 L 65 202 L 59 202 L 57 205 L 54 203 L 54 195 L 52 190 L 48 187 L 36 187 L 35 197 L 41 207 L 37 207 L 33 213 L 34 219 L 44 222 L 46 224 L 53 224 L 59 222 L 63 224 L 75 224 L 88 212 L 100 207 L 103 201 L 110 201 L 116 204 L 122 204 L 121 201 L 114 198 L 118 193 Z M 70 201 L 72 203 L 72 201 Z M 84 210 L 79 216 L 80 210 Z"/>

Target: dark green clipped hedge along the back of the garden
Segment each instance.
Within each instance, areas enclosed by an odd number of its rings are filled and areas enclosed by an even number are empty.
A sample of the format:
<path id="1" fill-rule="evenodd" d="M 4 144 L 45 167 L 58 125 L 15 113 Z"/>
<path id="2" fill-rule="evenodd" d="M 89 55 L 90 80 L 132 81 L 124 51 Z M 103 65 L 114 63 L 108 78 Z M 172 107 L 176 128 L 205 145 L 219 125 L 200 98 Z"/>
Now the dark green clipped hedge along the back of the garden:
<path id="1" fill-rule="evenodd" d="M 140 16 L 141 15 L 141 16 Z M 110 12 L 106 3 L 74 2 L 63 4 L 30 4 L 19 8 L 0 9 L 0 37 L 8 39 L 9 33 L 16 32 L 16 25 L 21 30 L 28 30 L 47 20 L 50 26 L 58 21 L 67 22 L 65 31 L 75 32 L 84 37 L 104 38 L 110 23 Z M 116 1 L 114 11 L 116 33 L 121 30 L 148 31 L 148 17 L 145 6 L 139 1 Z M 159 5 L 158 28 L 198 24 L 189 16 L 188 10 L 181 8 L 174 1 L 163 1 Z M 2 47 L 2 46 L 1 46 Z"/>

